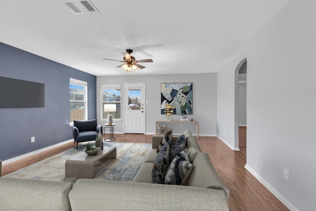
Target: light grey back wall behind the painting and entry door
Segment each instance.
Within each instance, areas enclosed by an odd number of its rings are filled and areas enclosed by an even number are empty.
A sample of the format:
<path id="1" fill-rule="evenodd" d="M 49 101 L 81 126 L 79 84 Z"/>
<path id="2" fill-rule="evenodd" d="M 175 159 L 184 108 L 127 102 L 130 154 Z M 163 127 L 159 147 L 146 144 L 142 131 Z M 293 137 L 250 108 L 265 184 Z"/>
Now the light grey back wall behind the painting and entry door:
<path id="1" fill-rule="evenodd" d="M 120 69 L 116 71 L 122 71 Z M 141 70 L 140 70 L 141 71 Z M 123 89 L 124 83 L 145 83 L 146 85 L 146 134 L 155 134 L 155 123 L 157 120 L 166 119 L 160 114 L 160 84 L 161 83 L 193 83 L 193 115 L 187 115 L 187 119 L 194 118 L 199 122 L 199 135 L 216 136 L 216 113 L 217 113 L 217 73 L 207 74 L 170 74 L 170 75 L 141 75 L 135 76 L 130 73 L 128 76 L 99 76 L 97 77 L 97 118 L 101 121 L 101 90 L 102 84 L 120 84 Z M 123 93 L 123 92 L 121 92 Z M 121 104 L 124 97 L 121 97 Z M 123 109 L 123 106 L 121 106 Z M 123 114 L 123 110 L 121 110 Z M 169 119 L 179 120 L 180 115 L 170 115 Z M 115 132 L 123 133 L 124 124 L 115 122 Z M 183 134 L 185 129 L 190 129 L 196 134 L 196 125 L 183 123 L 168 123 L 167 126 L 173 129 L 174 134 Z"/>

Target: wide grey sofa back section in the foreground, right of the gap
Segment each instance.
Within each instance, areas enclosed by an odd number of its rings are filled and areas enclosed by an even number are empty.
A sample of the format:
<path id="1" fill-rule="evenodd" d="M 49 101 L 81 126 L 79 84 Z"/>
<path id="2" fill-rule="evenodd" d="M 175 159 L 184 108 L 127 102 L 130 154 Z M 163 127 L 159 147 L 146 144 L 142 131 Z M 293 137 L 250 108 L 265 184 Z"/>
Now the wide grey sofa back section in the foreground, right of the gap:
<path id="1" fill-rule="evenodd" d="M 109 211 L 229 211 L 222 190 L 141 182 L 79 179 L 69 193 L 69 200 L 72 211 L 100 208 Z"/>

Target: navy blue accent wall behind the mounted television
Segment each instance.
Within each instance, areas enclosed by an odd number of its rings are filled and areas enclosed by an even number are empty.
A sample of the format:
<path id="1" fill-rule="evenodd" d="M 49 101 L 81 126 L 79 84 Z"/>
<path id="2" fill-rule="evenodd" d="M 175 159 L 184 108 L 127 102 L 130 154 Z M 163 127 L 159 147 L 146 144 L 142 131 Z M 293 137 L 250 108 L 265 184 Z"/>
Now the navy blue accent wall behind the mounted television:
<path id="1" fill-rule="evenodd" d="M 45 84 L 44 108 L 0 108 L 2 161 L 72 139 L 70 78 L 88 83 L 88 120 L 96 119 L 96 76 L 0 42 L 0 77 Z"/>

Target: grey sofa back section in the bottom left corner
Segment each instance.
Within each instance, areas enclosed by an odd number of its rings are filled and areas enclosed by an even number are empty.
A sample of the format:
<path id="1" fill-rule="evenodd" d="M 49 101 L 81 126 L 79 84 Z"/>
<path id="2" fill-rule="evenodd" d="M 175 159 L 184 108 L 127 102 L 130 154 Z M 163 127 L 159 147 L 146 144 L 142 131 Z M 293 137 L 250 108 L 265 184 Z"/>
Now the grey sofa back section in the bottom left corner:
<path id="1" fill-rule="evenodd" d="M 71 211 L 71 182 L 0 177 L 0 210 Z"/>

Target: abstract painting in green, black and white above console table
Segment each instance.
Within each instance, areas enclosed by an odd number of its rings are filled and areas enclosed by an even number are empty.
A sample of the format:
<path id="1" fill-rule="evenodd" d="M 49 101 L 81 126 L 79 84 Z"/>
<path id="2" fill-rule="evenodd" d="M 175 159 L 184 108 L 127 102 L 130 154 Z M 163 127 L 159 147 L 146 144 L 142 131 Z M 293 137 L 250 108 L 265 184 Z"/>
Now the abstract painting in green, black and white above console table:
<path id="1" fill-rule="evenodd" d="M 161 84 L 161 114 L 164 105 L 173 106 L 173 114 L 193 114 L 193 83 L 163 83 Z"/>

